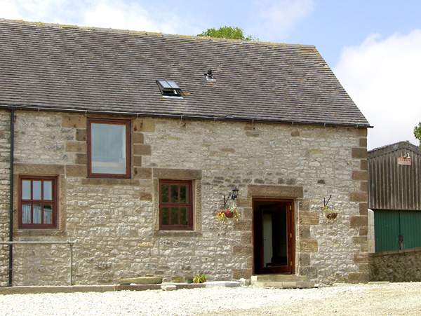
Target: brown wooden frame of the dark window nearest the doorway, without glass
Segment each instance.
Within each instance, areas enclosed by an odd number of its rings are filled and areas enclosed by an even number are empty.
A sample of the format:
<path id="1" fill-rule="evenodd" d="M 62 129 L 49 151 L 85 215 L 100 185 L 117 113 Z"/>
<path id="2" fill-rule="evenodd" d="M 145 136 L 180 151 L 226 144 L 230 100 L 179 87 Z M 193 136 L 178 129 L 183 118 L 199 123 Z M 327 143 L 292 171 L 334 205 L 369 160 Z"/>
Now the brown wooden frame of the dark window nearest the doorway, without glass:
<path id="1" fill-rule="evenodd" d="M 188 193 L 188 202 L 162 202 L 161 200 L 161 186 L 162 184 L 177 185 L 179 186 L 179 199 L 180 199 L 180 185 L 187 185 Z M 193 230 L 193 181 L 192 180 L 159 180 L 159 229 L 161 231 L 192 231 Z M 169 200 L 171 201 L 171 189 L 168 195 Z M 171 225 L 171 212 L 169 218 L 169 225 L 162 224 L 162 208 L 163 207 L 187 207 L 187 216 L 188 224 L 187 225 Z M 180 223 L 180 212 L 178 212 L 178 218 Z"/>

